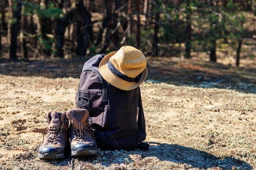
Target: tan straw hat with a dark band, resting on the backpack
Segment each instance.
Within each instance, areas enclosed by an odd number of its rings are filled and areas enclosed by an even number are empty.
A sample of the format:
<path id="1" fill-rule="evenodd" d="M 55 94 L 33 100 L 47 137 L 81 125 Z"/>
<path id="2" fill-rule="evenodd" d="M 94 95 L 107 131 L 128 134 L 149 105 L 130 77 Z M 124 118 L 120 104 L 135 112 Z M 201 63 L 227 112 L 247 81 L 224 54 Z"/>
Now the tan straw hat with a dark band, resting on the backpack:
<path id="1" fill-rule="evenodd" d="M 122 46 L 106 55 L 99 64 L 101 76 L 125 91 L 138 87 L 147 77 L 146 57 L 132 46 Z"/>

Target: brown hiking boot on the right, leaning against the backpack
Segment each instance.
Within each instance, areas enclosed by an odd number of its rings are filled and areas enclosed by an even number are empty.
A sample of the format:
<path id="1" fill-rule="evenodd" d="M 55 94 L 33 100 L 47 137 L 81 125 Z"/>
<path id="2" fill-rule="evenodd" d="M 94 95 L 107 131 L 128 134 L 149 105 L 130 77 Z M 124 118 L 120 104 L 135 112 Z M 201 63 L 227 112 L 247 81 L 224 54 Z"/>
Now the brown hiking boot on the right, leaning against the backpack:
<path id="1" fill-rule="evenodd" d="M 97 146 L 90 130 L 89 112 L 77 108 L 67 111 L 70 120 L 70 148 L 71 156 L 96 155 Z"/>

